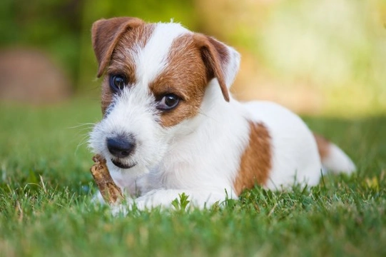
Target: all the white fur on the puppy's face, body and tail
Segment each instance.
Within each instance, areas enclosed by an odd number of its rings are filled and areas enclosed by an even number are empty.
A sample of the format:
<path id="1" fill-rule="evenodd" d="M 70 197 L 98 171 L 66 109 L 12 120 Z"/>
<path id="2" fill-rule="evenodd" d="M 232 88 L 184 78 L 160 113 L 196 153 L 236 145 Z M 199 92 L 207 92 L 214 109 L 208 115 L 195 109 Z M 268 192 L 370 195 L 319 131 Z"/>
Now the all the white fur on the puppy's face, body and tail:
<path id="1" fill-rule="evenodd" d="M 272 166 L 265 188 L 318 183 L 322 163 L 313 133 L 305 123 L 278 104 L 240 103 L 232 96 L 229 102 L 224 101 L 217 79 L 208 83 L 198 115 L 176 126 L 161 126 L 154 119 L 158 113 L 156 99 L 149 94 L 148 84 L 168 69 L 173 41 L 193 32 L 174 23 L 155 26 L 146 46 L 127 49 L 136 64 L 136 85 L 114 96 L 90 136 L 93 152 L 106 158 L 113 180 L 126 192 L 129 203 L 135 201 L 141 209 L 167 207 L 179 194 L 186 193 L 193 206 L 203 208 L 222 202 L 226 196 L 237 198 L 233 183 L 250 141 L 248 121 L 264 124 L 270 133 Z M 238 72 L 240 56 L 235 49 L 226 48 L 229 60 L 224 74 L 229 88 Z M 117 133 L 132 133 L 141 142 L 132 156 L 121 160 L 136 163 L 133 168 L 118 168 L 111 162 L 106 138 Z M 350 158 L 337 146 L 331 147 L 327 168 L 354 171 Z"/>

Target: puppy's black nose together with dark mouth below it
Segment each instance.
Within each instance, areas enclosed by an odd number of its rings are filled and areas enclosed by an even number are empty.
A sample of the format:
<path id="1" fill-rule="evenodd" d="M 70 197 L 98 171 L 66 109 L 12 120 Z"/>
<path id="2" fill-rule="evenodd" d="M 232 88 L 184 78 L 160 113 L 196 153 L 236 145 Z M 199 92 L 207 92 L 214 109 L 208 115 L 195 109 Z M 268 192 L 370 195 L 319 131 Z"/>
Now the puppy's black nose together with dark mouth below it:
<path id="1" fill-rule="evenodd" d="M 136 140 L 132 135 L 118 135 L 106 138 L 108 151 L 113 155 L 112 163 L 119 168 L 132 168 L 136 164 L 125 164 L 119 161 L 130 156 L 136 149 Z"/>

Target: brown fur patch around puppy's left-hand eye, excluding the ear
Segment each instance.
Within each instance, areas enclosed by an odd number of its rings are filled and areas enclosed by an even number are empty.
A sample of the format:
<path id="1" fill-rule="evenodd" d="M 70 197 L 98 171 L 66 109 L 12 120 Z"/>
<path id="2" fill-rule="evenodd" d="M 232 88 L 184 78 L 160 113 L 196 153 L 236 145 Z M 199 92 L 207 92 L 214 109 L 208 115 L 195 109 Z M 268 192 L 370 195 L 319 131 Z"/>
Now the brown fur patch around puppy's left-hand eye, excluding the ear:
<path id="1" fill-rule="evenodd" d="M 133 29 L 126 31 L 120 35 L 120 39 L 116 42 L 116 46 L 111 53 L 111 61 L 106 69 L 107 75 L 121 74 L 126 76 L 128 86 L 136 84 L 136 64 L 133 61 L 128 49 L 134 47 L 143 48 L 151 33 L 154 30 L 153 24 L 136 26 Z M 105 114 L 106 108 L 111 104 L 113 92 L 109 86 L 109 78 L 106 76 L 102 83 L 102 113 Z"/>

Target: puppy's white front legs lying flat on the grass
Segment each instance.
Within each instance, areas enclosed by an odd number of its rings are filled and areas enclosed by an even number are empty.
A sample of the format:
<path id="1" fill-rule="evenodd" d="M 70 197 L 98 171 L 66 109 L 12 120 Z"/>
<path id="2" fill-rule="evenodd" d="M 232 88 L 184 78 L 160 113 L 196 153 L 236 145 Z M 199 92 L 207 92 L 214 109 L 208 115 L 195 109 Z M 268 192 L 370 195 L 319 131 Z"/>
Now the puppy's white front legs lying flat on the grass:
<path id="1" fill-rule="evenodd" d="M 161 208 L 171 208 L 172 202 L 177 199 L 180 201 L 183 193 L 188 197 L 188 206 L 197 208 L 206 208 L 212 206 L 214 203 L 222 203 L 227 197 L 223 191 L 200 191 L 200 190 L 178 190 L 178 189 L 156 189 L 149 191 L 148 193 L 138 198 L 128 198 L 126 204 L 114 206 L 112 209 L 113 214 L 126 214 L 133 206 L 136 206 L 139 210 L 146 210 L 161 206 Z M 228 198 L 235 198 L 235 194 L 228 195 Z"/>

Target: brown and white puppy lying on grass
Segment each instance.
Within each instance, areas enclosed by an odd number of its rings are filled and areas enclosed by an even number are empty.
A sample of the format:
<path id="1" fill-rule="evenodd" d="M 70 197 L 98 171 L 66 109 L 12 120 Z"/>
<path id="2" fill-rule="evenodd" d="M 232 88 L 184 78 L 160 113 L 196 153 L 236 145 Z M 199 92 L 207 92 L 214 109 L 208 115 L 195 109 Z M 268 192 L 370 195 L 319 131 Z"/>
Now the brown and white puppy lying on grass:
<path id="1" fill-rule="evenodd" d="M 119 17 L 91 30 L 103 119 L 89 143 L 140 209 L 185 193 L 205 208 L 256 185 L 315 186 L 323 171 L 355 164 L 293 112 L 229 92 L 240 54 L 177 23 Z"/>

